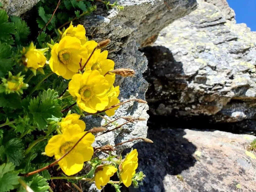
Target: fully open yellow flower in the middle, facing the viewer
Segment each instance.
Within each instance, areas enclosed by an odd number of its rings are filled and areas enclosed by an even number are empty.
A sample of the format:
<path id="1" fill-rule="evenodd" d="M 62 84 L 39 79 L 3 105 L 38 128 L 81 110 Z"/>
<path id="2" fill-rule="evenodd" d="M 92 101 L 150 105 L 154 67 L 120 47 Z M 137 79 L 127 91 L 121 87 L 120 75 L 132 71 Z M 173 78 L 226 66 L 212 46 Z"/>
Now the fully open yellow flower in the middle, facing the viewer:
<path id="1" fill-rule="evenodd" d="M 97 70 L 75 74 L 68 84 L 68 90 L 76 97 L 77 105 L 88 113 L 103 110 L 109 103 L 106 95 L 109 83 Z"/>

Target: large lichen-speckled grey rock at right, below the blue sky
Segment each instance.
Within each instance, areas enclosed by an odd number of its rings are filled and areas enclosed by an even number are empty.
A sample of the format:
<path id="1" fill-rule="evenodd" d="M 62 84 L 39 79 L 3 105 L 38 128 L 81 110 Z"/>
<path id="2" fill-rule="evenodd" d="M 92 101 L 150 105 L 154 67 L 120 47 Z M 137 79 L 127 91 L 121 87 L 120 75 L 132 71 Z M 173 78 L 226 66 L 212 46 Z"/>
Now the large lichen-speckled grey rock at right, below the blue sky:
<path id="1" fill-rule="evenodd" d="M 198 3 L 164 28 L 153 47 L 142 49 L 149 60 L 150 113 L 254 121 L 256 36 L 235 24 L 226 0 Z"/>

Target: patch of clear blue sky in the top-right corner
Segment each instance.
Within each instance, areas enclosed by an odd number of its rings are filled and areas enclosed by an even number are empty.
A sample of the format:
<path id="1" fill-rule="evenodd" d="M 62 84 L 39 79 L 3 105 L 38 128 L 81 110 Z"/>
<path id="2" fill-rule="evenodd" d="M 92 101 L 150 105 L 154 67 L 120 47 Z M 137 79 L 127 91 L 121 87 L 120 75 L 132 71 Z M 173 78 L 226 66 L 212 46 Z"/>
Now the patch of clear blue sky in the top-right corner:
<path id="1" fill-rule="evenodd" d="M 237 23 L 246 23 L 256 31 L 256 0 L 227 0 L 236 13 Z"/>

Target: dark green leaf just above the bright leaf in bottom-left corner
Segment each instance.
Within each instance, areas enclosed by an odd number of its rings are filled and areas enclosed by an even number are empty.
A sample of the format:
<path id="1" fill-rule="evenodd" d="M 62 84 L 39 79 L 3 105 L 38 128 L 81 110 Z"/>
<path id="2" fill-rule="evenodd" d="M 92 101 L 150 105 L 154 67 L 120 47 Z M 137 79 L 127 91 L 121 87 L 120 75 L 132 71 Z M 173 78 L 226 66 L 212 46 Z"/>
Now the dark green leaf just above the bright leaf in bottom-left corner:
<path id="1" fill-rule="evenodd" d="M 12 138 L 4 145 L 4 148 L 7 159 L 14 165 L 18 166 L 20 164 L 20 160 L 24 157 L 22 140 Z"/>

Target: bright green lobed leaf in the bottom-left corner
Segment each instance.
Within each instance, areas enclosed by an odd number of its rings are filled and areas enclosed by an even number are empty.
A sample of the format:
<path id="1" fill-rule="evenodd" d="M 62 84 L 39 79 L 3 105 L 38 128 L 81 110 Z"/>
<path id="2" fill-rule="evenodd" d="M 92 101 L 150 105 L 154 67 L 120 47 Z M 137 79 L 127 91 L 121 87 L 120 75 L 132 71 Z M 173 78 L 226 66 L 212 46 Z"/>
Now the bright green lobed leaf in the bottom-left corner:
<path id="1" fill-rule="evenodd" d="M 0 165 L 0 192 L 13 190 L 19 184 L 18 172 L 14 171 L 15 166 L 11 163 Z"/>

